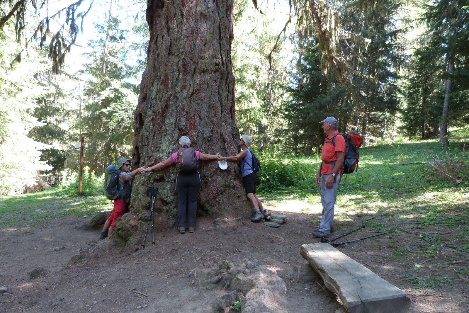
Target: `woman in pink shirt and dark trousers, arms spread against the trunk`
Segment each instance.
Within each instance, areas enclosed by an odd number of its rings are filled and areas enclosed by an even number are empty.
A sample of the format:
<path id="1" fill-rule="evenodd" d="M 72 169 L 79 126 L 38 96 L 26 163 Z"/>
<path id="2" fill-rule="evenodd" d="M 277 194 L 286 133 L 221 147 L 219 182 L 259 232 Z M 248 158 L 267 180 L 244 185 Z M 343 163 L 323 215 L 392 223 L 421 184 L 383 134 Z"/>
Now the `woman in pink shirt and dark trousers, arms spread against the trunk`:
<path id="1" fill-rule="evenodd" d="M 178 160 L 180 156 L 193 156 L 197 159 L 185 161 Z M 177 224 L 181 234 L 186 232 L 186 212 L 189 224 L 189 232 L 194 232 L 196 227 L 197 198 L 199 195 L 200 174 L 198 171 L 198 160 L 216 160 L 217 156 L 212 154 L 203 154 L 193 148 L 190 148 L 190 139 L 182 136 L 179 139 L 179 150 L 168 157 L 166 160 L 148 167 L 145 171 L 158 171 L 170 164 L 176 164 L 178 175 L 176 177 L 176 192 L 178 198 Z"/>

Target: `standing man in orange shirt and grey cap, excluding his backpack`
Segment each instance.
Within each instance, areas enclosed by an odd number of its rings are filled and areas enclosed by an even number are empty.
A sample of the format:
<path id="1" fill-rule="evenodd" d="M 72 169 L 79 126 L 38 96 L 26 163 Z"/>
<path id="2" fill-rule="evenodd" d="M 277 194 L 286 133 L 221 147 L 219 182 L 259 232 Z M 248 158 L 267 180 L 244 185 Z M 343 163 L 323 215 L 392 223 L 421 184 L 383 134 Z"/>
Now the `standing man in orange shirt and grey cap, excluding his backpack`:
<path id="1" fill-rule="evenodd" d="M 321 224 L 313 236 L 318 238 L 329 237 L 333 230 L 334 205 L 337 198 L 340 177 L 342 175 L 342 164 L 345 155 L 345 139 L 338 135 L 337 119 L 330 116 L 319 122 L 326 134 L 326 139 L 321 151 L 321 166 L 316 175 L 316 184 L 321 186 L 321 203 L 323 206 Z"/>

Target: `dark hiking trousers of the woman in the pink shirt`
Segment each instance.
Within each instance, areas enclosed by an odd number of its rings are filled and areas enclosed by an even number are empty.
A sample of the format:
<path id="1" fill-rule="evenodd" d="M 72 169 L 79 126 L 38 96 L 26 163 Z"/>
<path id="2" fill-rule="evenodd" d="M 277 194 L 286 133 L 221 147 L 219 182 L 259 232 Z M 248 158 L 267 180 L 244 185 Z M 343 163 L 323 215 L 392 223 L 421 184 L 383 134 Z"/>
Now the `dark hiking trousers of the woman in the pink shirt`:
<path id="1" fill-rule="evenodd" d="M 196 225 L 197 198 L 201 184 L 199 173 L 178 174 L 176 179 L 178 227 L 186 226 L 186 212 L 189 226 Z"/>

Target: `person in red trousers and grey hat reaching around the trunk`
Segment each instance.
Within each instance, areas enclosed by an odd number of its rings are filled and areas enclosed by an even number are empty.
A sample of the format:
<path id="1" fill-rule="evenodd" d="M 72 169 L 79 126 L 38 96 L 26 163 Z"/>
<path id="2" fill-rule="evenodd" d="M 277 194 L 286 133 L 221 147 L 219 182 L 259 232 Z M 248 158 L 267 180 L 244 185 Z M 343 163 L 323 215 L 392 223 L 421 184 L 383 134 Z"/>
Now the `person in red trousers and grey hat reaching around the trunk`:
<path id="1" fill-rule="evenodd" d="M 130 199 L 130 192 L 132 190 L 132 183 L 131 180 L 132 178 L 137 174 L 137 173 L 144 173 L 145 168 L 144 167 L 139 167 L 134 171 L 130 171 L 130 160 L 126 159 L 125 157 L 121 157 L 118 161 L 117 164 L 119 165 L 119 168 L 121 169 L 121 173 L 119 174 L 119 179 L 117 181 L 117 190 L 125 190 L 127 196 L 124 198 L 117 198 L 114 200 L 114 209 L 111 213 L 111 216 L 107 219 L 106 223 L 104 224 L 103 230 L 101 231 L 101 235 L 99 236 L 100 239 L 104 239 L 107 236 L 112 235 L 114 231 L 114 224 L 117 221 L 117 219 L 121 216 L 124 215 L 125 210 L 129 206 L 127 200 Z"/>

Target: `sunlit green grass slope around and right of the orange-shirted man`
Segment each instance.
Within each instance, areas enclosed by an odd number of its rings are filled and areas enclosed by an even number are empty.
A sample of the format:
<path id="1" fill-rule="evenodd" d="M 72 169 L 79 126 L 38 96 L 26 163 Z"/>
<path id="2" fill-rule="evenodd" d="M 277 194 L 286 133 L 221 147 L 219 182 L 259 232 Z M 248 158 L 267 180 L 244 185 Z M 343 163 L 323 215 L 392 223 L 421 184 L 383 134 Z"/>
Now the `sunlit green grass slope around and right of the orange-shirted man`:
<path id="1" fill-rule="evenodd" d="M 432 160 L 431 155 L 444 157 L 448 152 L 461 156 L 460 143 L 469 142 L 469 129 L 452 130 L 449 140 L 449 149 L 442 149 L 439 139 L 400 140 L 360 149 L 358 172 L 343 176 L 335 206 L 335 225 L 340 233 L 361 224 L 375 233 L 393 231 L 391 239 L 378 237 L 364 244 L 385 245 L 390 253 L 384 260 L 412 268 L 414 273 L 404 278 L 425 289 L 450 287 L 449 276 L 454 272 L 447 271 L 449 262 L 464 259 L 469 253 L 469 177 L 455 185 L 425 170 L 430 169 L 427 162 Z M 297 159 L 308 177 L 281 190 L 291 192 L 263 191 L 259 195 L 267 208 L 285 201 L 306 202 L 310 210 L 316 210 L 311 212 L 310 223 L 318 225 L 321 202 L 314 180 L 319 157 Z M 308 209 L 303 212 L 308 213 Z M 448 251 L 445 245 L 454 249 Z M 435 269 L 438 277 L 426 277 Z"/>

